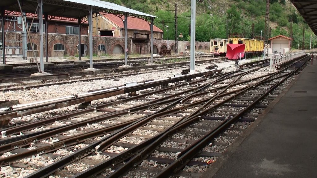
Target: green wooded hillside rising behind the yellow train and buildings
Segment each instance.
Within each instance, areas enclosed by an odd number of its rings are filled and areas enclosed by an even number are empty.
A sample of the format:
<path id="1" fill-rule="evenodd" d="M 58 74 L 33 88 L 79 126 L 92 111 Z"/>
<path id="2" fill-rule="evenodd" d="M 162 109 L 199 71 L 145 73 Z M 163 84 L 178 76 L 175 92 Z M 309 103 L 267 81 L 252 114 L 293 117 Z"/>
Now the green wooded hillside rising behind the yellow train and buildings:
<path id="1" fill-rule="evenodd" d="M 183 34 L 185 40 L 190 39 L 190 8 L 189 0 L 107 0 L 128 8 L 157 16 L 154 25 L 164 31 L 167 39 L 166 25 L 169 26 L 169 39 L 175 36 L 175 3 L 178 3 L 178 35 Z M 209 41 L 213 38 L 227 38 L 238 35 L 265 39 L 265 0 L 196 0 L 196 41 Z M 292 47 L 302 46 L 303 29 L 305 29 L 305 49 L 309 49 L 310 37 L 312 48 L 317 47 L 317 39 L 296 8 L 287 0 L 270 0 L 269 26 L 270 37 L 285 35 L 290 37 L 293 29 Z"/>

